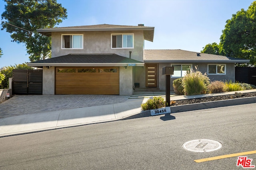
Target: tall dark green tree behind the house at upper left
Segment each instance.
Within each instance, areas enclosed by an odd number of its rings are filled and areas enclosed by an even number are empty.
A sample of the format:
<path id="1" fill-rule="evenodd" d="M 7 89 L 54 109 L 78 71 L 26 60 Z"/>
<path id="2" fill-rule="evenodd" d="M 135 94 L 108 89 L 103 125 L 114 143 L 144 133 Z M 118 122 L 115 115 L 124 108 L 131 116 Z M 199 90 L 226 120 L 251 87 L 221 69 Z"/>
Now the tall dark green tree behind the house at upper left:
<path id="1" fill-rule="evenodd" d="M 30 61 L 46 59 L 51 55 L 51 38 L 36 29 L 52 28 L 67 18 L 66 9 L 56 0 L 4 0 L 2 30 L 11 33 L 12 41 L 25 43 Z M 14 26 L 15 25 L 15 26 Z"/>

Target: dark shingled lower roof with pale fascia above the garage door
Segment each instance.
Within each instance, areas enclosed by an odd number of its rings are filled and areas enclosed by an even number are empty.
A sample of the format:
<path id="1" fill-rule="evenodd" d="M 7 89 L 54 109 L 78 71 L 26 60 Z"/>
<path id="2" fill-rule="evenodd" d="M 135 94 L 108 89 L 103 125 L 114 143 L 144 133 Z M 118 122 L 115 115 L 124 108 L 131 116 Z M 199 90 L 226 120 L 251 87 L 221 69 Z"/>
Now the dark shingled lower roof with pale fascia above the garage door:
<path id="1" fill-rule="evenodd" d="M 116 54 L 68 54 L 28 63 L 28 66 L 144 66 L 144 63 Z"/>

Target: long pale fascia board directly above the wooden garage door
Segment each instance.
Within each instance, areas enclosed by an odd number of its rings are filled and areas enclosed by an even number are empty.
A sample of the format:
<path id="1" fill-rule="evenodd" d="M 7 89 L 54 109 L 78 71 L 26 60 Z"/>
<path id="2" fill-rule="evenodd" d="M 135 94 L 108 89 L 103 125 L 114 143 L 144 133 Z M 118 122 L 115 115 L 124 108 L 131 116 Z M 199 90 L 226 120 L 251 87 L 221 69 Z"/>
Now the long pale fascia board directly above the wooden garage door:
<path id="1" fill-rule="evenodd" d="M 72 67 L 82 67 L 82 66 L 129 66 L 129 64 L 135 64 L 134 66 L 144 66 L 144 63 L 28 63 L 28 66 L 72 66 Z"/>

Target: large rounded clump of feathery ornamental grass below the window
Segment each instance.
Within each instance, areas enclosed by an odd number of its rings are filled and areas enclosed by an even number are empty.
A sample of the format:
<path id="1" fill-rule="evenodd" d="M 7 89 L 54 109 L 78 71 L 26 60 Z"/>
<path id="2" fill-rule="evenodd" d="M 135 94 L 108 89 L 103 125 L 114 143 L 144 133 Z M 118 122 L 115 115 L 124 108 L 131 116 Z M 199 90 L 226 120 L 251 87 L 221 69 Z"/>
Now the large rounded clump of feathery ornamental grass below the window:
<path id="1" fill-rule="evenodd" d="M 200 71 L 191 72 L 182 78 L 182 86 L 184 87 L 184 93 L 187 96 L 206 94 L 207 86 L 209 84 L 210 79 L 208 76 L 202 74 Z"/>

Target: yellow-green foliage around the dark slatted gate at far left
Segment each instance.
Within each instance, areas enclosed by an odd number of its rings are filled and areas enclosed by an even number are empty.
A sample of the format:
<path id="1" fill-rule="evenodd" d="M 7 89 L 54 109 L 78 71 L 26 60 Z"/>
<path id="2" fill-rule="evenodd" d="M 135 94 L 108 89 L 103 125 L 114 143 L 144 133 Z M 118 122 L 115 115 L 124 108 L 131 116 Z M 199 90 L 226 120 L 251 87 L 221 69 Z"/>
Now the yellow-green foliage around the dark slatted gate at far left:
<path id="1" fill-rule="evenodd" d="M 15 64 L 15 66 L 5 66 L 0 69 L 0 75 L 4 75 L 2 82 L 0 83 L 0 89 L 9 88 L 9 78 L 12 77 L 13 69 L 32 70 L 33 68 L 26 63 Z"/>

